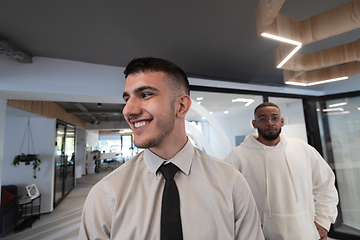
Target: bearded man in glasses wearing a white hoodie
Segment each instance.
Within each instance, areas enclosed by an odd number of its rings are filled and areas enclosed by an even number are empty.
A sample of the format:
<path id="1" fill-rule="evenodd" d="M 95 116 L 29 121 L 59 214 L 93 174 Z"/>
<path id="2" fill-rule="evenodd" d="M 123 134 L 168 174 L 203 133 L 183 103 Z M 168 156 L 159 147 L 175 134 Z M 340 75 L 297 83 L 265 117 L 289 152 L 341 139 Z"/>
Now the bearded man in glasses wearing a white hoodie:
<path id="1" fill-rule="evenodd" d="M 276 104 L 260 104 L 254 116 L 258 134 L 246 136 L 225 161 L 248 181 L 265 239 L 327 239 L 337 216 L 333 171 L 313 147 L 281 133 Z"/>

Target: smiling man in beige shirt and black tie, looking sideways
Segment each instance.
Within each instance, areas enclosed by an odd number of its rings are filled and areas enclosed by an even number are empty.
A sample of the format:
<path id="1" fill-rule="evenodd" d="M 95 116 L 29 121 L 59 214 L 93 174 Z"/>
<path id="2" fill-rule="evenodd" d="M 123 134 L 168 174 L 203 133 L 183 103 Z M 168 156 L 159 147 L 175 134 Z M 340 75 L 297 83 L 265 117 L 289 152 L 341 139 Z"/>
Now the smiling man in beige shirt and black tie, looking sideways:
<path id="1" fill-rule="evenodd" d="M 163 59 L 140 58 L 124 73 L 123 114 L 135 145 L 145 150 L 92 188 L 80 239 L 264 239 L 242 174 L 186 136 L 191 99 L 184 71 Z M 163 172 L 168 166 L 176 169 L 173 180 Z M 164 197 L 169 182 L 178 193 L 171 201 Z"/>

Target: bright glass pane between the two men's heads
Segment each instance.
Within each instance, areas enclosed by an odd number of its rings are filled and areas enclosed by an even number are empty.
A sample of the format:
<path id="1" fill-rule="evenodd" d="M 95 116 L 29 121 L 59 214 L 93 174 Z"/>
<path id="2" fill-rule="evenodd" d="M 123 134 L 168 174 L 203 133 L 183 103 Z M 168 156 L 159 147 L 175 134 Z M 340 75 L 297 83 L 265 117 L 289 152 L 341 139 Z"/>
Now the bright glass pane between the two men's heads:
<path id="1" fill-rule="evenodd" d="M 243 136 L 255 132 L 251 120 L 262 96 L 191 91 L 190 97 L 193 103 L 186 115 L 188 136 L 210 155 L 223 159 Z"/>

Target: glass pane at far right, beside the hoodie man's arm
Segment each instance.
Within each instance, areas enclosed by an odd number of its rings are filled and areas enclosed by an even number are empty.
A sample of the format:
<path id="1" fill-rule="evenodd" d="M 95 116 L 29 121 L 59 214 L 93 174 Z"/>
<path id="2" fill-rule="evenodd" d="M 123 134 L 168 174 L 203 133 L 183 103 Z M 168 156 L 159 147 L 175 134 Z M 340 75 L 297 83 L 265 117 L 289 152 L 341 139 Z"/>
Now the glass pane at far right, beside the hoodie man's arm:
<path id="1" fill-rule="evenodd" d="M 316 103 L 325 159 L 335 170 L 339 216 L 335 232 L 360 236 L 360 97 Z"/>

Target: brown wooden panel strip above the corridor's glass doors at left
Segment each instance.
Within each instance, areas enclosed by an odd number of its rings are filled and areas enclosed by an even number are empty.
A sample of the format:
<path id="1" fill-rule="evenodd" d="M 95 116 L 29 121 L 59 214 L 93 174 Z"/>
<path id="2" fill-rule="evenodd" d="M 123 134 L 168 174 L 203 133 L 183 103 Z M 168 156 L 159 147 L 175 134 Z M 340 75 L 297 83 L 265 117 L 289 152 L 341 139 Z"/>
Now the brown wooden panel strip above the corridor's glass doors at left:
<path id="1" fill-rule="evenodd" d="M 75 125 L 77 128 L 86 130 L 85 122 L 54 102 L 48 101 L 27 101 L 27 100 L 7 100 L 7 105 L 22 109 L 27 112 L 46 118 L 56 118 L 58 120 Z"/>

